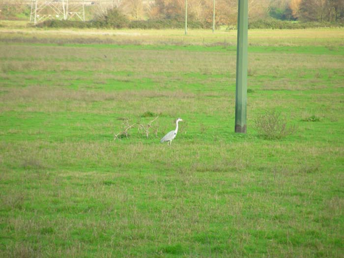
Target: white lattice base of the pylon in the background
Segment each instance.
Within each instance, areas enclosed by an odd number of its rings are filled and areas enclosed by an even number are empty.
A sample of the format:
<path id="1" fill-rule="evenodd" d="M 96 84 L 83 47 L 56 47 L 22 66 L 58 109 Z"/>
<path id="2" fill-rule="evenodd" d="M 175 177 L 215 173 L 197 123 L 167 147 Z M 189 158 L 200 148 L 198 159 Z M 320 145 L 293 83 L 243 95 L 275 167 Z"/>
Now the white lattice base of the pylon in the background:
<path id="1" fill-rule="evenodd" d="M 37 24 L 48 19 L 72 18 L 85 21 L 85 3 L 84 0 L 32 0 L 30 22 Z"/>

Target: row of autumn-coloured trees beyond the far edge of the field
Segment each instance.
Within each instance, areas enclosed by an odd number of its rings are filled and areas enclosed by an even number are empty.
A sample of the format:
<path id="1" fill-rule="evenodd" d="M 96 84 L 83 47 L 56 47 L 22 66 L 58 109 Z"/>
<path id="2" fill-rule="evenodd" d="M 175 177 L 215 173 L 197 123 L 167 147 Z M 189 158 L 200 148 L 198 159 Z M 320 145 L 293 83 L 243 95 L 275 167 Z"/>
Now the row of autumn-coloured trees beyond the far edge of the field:
<path id="1" fill-rule="evenodd" d="M 23 7 L 23 3 L 28 0 L 13 2 L 16 6 L 1 5 L 0 0 L 0 19 L 20 10 L 22 16 L 29 15 L 29 6 Z M 187 2 L 189 21 L 212 23 L 213 0 L 187 0 Z M 185 14 L 185 0 L 93 0 L 92 3 L 94 4 L 86 5 L 89 16 L 99 16 L 114 7 L 130 20 L 181 21 Z M 215 0 L 216 24 L 236 24 L 237 4 L 238 0 Z M 304 22 L 343 22 L 344 0 L 249 0 L 249 17 L 251 21 L 273 17 L 279 20 Z"/>

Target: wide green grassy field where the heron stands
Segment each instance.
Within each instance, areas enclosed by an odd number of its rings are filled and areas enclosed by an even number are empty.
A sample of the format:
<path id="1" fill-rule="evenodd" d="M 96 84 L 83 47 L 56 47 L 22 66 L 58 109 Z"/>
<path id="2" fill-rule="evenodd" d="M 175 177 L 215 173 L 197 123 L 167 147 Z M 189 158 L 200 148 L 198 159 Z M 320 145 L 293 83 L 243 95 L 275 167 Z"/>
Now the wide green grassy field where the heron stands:
<path id="1" fill-rule="evenodd" d="M 246 135 L 236 32 L 182 33 L 0 28 L 0 257 L 344 257 L 343 29 L 249 32 Z"/>

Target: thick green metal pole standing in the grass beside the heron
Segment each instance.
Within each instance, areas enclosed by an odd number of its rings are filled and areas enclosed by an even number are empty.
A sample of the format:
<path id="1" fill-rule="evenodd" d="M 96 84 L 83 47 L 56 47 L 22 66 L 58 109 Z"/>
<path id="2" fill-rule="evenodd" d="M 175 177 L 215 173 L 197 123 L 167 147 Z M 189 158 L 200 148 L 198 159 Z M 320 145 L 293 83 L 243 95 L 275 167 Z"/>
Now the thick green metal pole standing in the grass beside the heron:
<path id="1" fill-rule="evenodd" d="M 248 0 L 238 0 L 236 46 L 235 132 L 246 133 Z"/>

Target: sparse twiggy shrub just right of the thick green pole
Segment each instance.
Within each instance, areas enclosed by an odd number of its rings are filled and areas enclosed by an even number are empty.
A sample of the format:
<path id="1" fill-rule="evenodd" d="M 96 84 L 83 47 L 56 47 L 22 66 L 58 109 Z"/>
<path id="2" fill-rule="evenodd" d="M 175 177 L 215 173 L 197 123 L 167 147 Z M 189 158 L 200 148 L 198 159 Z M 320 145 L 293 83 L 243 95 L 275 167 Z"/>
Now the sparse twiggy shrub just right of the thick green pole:
<path id="1" fill-rule="evenodd" d="M 268 111 L 255 119 L 258 134 L 267 140 L 282 139 L 296 131 L 295 125 L 287 125 L 280 112 Z"/>

